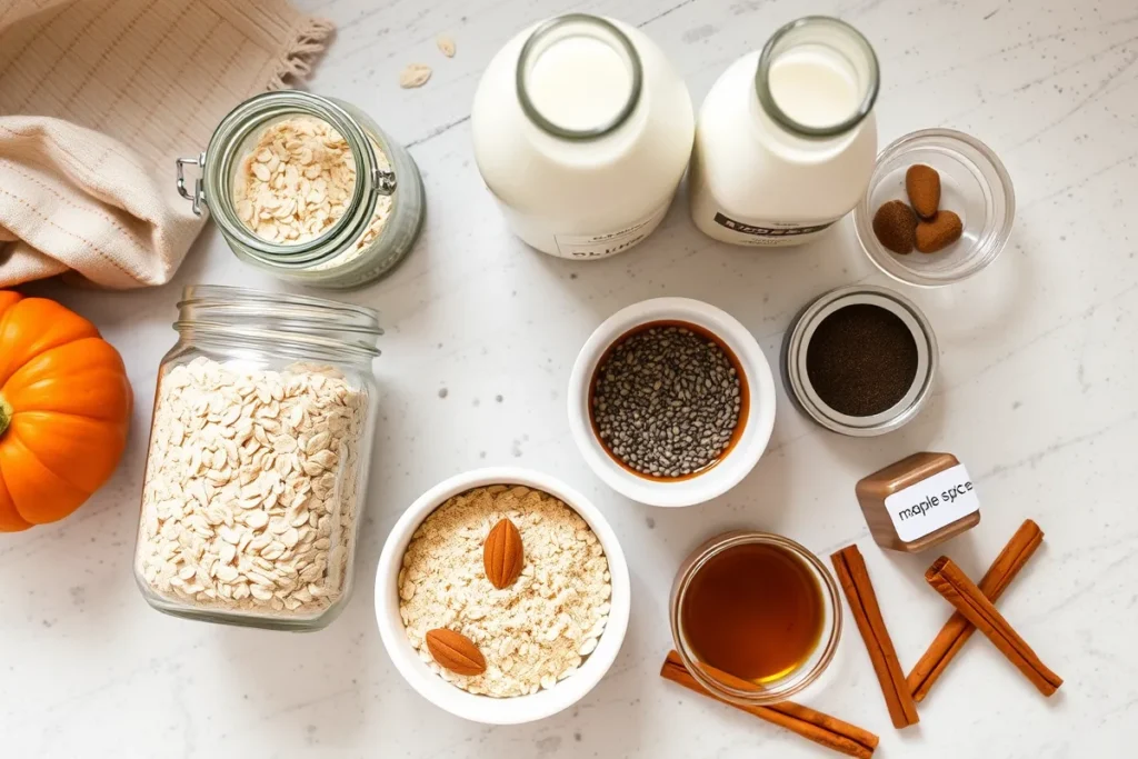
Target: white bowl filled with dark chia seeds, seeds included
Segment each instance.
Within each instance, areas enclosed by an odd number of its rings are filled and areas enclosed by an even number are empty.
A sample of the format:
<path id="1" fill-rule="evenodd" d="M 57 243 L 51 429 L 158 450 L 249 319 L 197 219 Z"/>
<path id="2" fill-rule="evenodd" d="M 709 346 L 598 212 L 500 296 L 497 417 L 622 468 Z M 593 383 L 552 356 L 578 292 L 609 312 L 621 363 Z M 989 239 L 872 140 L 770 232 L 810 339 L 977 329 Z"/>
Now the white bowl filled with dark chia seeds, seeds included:
<path id="1" fill-rule="evenodd" d="M 654 298 L 610 316 L 569 380 L 569 427 L 607 485 L 641 503 L 721 495 L 770 439 L 775 387 L 754 337 L 726 312 Z"/>

